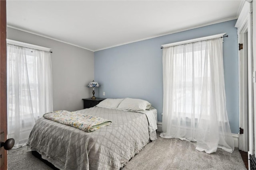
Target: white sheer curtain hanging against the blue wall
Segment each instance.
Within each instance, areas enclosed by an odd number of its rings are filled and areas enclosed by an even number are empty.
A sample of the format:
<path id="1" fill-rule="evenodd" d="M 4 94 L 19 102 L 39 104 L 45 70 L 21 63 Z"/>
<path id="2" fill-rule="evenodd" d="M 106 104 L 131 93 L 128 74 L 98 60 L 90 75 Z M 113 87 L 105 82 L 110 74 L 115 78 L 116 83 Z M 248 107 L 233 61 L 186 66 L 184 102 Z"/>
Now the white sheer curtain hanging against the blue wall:
<path id="1" fill-rule="evenodd" d="M 226 111 L 222 39 L 163 49 L 163 133 L 160 137 L 197 141 L 206 153 L 233 152 Z"/>

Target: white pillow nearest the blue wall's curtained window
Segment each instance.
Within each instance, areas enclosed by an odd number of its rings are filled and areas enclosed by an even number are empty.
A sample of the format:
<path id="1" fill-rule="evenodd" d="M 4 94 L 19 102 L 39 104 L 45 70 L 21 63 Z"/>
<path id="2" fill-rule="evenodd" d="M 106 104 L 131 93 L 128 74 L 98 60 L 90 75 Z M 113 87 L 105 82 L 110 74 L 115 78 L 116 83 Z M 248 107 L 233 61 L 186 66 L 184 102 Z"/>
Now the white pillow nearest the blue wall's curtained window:
<path id="1" fill-rule="evenodd" d="M 118 106 L 118 109 L 142 111 L 149 109 L 151 104 L 146 100 L 125 98 Z"/>

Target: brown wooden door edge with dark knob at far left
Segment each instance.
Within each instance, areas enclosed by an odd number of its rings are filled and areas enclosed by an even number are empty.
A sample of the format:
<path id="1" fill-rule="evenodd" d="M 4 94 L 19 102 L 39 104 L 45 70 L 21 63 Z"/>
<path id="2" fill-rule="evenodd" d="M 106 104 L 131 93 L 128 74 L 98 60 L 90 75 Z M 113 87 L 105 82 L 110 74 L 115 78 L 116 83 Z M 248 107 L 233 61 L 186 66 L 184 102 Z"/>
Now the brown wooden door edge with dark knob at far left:
<path id="1" fill-rule="evenodd" d="M 0 0 L 0 140 L 7 136 L 7 97 L 6 97 L 6 0 Z M 7 151 L 1 147 L 1 170 L 7 170 Z"/>

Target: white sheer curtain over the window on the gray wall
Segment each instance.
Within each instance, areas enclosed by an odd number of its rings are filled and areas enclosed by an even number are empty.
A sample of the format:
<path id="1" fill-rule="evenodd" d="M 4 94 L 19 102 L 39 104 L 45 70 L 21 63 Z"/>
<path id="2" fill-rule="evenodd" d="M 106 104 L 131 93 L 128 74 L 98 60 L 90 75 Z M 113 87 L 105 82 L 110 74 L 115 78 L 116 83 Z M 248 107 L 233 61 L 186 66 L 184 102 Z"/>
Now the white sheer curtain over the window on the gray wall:
<path id="1" fill-rule="evenodd" d="M 26 145 L 36 119 L 52 111 L 50 52 L 7 44 L 8 138 Z"/>

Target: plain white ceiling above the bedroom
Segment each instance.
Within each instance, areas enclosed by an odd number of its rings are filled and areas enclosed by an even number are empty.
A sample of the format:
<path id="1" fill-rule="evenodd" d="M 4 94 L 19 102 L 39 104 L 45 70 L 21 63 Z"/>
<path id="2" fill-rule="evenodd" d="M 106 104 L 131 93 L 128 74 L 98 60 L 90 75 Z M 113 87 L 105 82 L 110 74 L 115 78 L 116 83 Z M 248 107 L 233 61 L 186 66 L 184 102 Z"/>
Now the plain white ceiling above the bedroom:
<path id="1" fill-rule="evenodd" d="M 6 2 L 8 27 L 98 51 L 234 20 L 244 0 Z"/>

